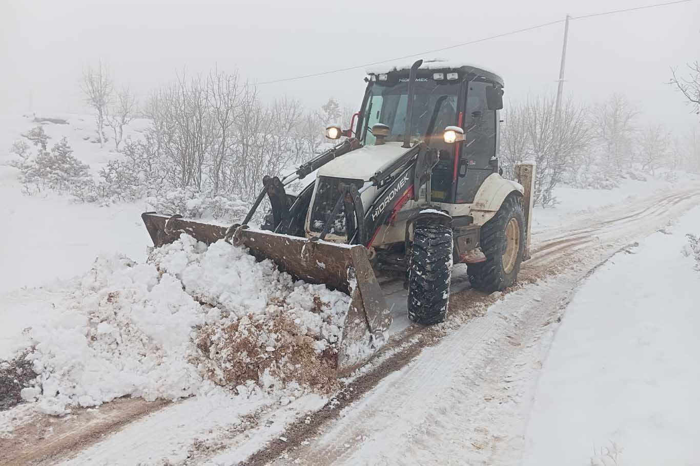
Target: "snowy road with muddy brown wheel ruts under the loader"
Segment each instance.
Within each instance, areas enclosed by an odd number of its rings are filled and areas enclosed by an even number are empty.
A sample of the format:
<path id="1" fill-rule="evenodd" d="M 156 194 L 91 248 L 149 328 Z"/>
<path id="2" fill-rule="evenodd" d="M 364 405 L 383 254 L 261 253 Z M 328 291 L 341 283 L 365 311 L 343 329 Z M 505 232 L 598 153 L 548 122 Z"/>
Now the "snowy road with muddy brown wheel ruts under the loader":
<path id="1" fill-rule="evenodd" d="M 73 437 L 61 429 L 70 419 L 45 423 L 30 416 L 25 426 L 45 428 L 18 428 L 17 435 L 29 434 L 21 442 L 0 436 L 0 446 L 13 442 L 13 455 L 0 464 L 44 458 L 42 464 L 228 465 L 256 450 L 265 454 L 249 464 L 430 464 L 435 458 L 441 464 L 515 464 L 530 445 L 525 434 L 538 375 L 577 287 L 615 251 L 698 204 L 696 186 L 669 189 L 568 216 L 566 227 L 556 230 L 538 227 L 519 288 L 484 296 L 457 287 L 451 316 L 437 329 L 399 320 L 384 354 L 360 371 L 358 382 L 349 381 L 347 390 L 358 394 L 344 402 L 322 407 L 324 399 L 302 398 L 284 407 L 274 400 L 228 407 L 195 397 L 130 415 L 130 400 L 122 400 L 124 416 L 102 416 L 109 405 L 76 413 Z M 400 299 L 400 290 L 396 294 Z M 188 416 L 195 411 L 197 421 Z M 56 442 L 59 449 L 47 448 Z"/>

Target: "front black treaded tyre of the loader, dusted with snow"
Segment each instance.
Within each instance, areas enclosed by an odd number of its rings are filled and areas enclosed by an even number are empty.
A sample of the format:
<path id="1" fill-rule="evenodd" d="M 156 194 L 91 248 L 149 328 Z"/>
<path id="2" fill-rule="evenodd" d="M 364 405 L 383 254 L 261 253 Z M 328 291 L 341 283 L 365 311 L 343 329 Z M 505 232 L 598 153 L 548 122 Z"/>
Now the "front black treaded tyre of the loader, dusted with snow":
<path id="1" fill-rule="evenodd" d="M 408 318 L 431 325 L 447 316 L 452 272 L 452 229 L 416 223 L 408 268 Z"/>

